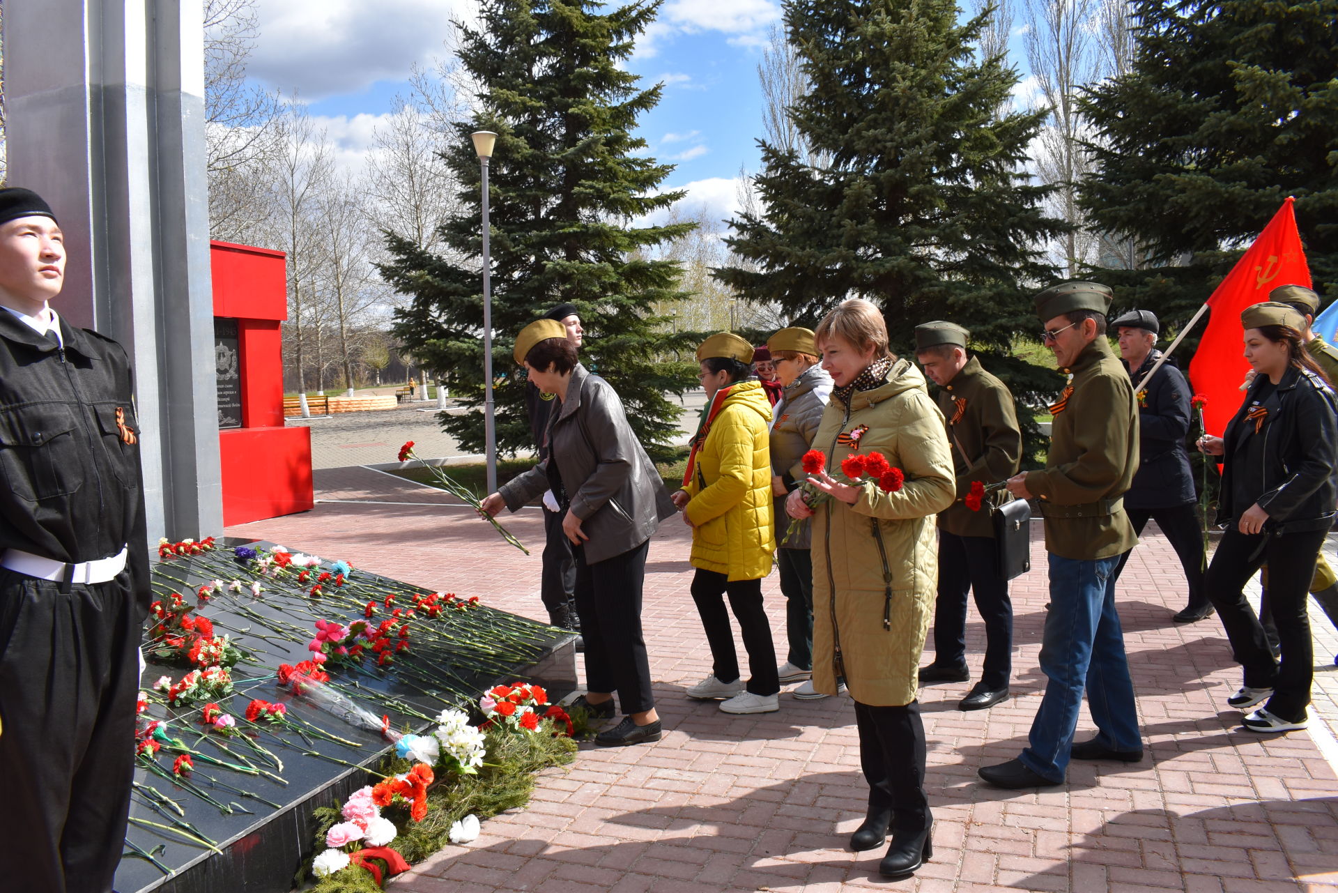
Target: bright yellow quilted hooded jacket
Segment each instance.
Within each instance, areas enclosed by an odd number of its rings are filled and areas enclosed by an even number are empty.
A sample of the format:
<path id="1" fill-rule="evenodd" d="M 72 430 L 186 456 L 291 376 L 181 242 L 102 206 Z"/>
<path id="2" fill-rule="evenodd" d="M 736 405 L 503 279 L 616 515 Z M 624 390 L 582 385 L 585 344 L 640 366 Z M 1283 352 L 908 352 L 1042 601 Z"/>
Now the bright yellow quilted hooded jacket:
<path id="1" fill-rule="evenodd" d="M 771 573 L 776 536 L 771 497 L 771 402 L 761 382 L 733 384 L 697 451 L 684 490 L 693 523 L 692 566 L 729 580 Z"/>

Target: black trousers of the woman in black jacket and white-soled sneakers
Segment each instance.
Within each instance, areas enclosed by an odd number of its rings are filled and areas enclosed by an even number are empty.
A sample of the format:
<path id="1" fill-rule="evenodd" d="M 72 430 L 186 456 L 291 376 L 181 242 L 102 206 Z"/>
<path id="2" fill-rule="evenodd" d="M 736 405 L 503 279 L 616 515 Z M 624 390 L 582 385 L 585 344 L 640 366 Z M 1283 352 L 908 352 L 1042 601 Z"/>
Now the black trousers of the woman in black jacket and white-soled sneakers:
<path id="1" fill-rule="evenodd" d="M 1314 653 L 1306 593 L 1326 533 L 1307 530 L 1279 537 L 1246 536 L 1231 527 L 1222 536 L 1206 578 L 1208 597 L 1231 640 L 1232 657 L 1244 668 L 1244 684 L 1272 688 L 1267 711 L 1290 722 L 1303 719 L 1310 703 Z M 1268 604 L 1282 645 L 1280 663 L 1268 649 L 1259 617 L 1243 593 L 1246 582 L 1266 561 Z"/>

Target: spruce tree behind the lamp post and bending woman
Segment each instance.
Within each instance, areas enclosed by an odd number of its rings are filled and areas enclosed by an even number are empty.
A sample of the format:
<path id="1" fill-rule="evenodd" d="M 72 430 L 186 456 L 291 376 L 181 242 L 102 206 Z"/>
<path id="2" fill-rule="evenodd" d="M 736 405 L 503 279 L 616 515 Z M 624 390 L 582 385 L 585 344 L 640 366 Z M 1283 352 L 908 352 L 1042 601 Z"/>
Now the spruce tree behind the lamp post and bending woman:
<path id="1" fill-rule="evenodd" d="M 462 449 L 482 453 L 483 284 L 476 130 L 498 133 L 488 174 L 492 256 L 492 367 L 498 382 L 498 451 L 534 446 L 515 335 L 553 305 L 571 303 L 585 328 L 582 363 L 618 391 L 633 430 L 665 455 L 678 407 L 666 391 L 694 384 L 694 368 L 658 357 L 682 336 L 652 312 L 684 297 L 678 266 L 648 249 L 690 224 L 634 226 L 682 197 L 657 187 L 673 170 L 641 154 L 637 118 L 660 100 L 618 67 L 658 3 L 611 11 L 593 0 L 487 0 L 479 29 L 463 28 L 460 63 L 482 86 L 479 111 L 456 126 L 443 154 L 470 213 L 446 221 L 444 250 L 387 236 L 383 276 L 412 300 L 395 333 L 462 396 L 463 414 L 442 414 Z M 502 375 L 504 374 L 504 378 Z"/>

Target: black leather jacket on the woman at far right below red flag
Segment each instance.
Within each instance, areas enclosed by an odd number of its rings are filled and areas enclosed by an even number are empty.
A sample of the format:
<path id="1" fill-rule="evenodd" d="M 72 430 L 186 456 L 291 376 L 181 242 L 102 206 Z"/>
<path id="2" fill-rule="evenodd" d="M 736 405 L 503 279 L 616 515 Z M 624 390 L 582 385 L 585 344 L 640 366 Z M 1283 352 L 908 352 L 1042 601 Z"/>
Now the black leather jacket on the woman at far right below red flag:
<path id="1" fill-rule="evenodd" d="M 1230 525 L 1255 502 L 1268 513 L 1266 530 L 1327 530 L 1334 519 L 1334 394 L 1314 374 L 1288 368 L 1264 399 L 1268 379 L 1256 376 L 1227 426 L 1218 523 Z M 1247 419 L 1258 403 L 1266 415 Z M 1255 424 L 1258 422 L 1258 432 Z"/>

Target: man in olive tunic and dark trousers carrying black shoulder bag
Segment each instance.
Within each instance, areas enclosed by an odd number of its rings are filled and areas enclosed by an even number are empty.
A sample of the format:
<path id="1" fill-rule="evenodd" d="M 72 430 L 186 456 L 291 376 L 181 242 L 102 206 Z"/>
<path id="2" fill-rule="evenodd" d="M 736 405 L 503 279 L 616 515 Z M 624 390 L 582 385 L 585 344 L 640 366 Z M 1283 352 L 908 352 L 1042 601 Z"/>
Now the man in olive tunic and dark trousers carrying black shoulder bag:
<path id="1" fill-rule="evenodd" d="M 975 609 L 985 623 L 985 667 L 981 680 L 958 708 L 985 710 L 1008 698 L 1013 669 L 1013 605 L 999 568 L 989 506 L 973 511 L 966 497 L 974 482 L 998 483 L 1017 474 L 1022 431 L 1008 387 L 986 372 L 978 359 L 967 356 L 969 337 L 970 333 L 954 323 L 915 327 L 915 359 L 939 387 L 938 408 L 953 442 L 957 475 L 957 501 L 938 515 L 934 661 L 921 668 L 919 681 L 925 685 L 970 679 L 966 594 L 974 592 Z"/>

